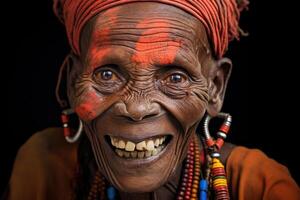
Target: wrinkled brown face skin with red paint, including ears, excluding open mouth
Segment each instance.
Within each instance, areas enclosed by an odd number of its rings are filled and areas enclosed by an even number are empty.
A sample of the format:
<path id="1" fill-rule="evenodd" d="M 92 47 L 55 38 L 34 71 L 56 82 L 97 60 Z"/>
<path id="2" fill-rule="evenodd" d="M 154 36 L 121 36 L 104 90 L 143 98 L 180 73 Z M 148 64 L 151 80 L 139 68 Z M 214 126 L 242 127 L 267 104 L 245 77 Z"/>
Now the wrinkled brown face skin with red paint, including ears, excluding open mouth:
<path id="1" fill-rule="evenodd" d="M 231 70 L 230 62 L 216 61 L 210 49 L 197 19 L 160 3 L 118 6 L 84 28 L 69 100 L 102 174 L 124 198 L 147 199 L 151 191 L 174 198 L 163 192 L 164 185 L 173 181 L 177 187 L 188 143 L 205 112 L 220 111 Z M 157 156 L 128 160 L 116 155 L 107 135 L 171 140 Z"/>

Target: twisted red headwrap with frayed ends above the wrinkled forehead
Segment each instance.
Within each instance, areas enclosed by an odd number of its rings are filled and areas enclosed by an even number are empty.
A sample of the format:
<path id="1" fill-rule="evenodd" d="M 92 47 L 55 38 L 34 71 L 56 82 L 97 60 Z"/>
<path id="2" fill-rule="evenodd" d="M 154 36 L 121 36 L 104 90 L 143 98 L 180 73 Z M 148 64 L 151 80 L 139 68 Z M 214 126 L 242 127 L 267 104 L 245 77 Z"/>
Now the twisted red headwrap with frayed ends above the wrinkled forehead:
<path id="1" fill-rule="evenodd" d="M 80 33 L 87 21 L 103 10 L 131 2 L 160 2 L 190 13 L 204 25 L 218 58 L 229 41 L 239 36 L 236 0 L 54 0 L 54 12 L 65 24 L 70 45 L 79 55 Z"/>

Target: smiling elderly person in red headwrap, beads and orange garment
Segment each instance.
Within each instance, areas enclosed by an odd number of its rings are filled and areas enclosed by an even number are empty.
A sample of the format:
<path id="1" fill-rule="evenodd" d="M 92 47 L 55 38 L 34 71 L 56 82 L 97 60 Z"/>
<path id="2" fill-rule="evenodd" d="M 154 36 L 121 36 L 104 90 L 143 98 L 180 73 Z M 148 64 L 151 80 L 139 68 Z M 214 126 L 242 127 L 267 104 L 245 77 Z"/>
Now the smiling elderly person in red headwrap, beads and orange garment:
<path id="1" fill-rule="evenodd" d="M 63 129 L 23 145 L 7 199 L 300 199 L 284 166 L 223 141 L 223 54 L 246 4 L 55 0 L 72 47 Z M 216 134 L 213 117 L 224 120 Z"/>

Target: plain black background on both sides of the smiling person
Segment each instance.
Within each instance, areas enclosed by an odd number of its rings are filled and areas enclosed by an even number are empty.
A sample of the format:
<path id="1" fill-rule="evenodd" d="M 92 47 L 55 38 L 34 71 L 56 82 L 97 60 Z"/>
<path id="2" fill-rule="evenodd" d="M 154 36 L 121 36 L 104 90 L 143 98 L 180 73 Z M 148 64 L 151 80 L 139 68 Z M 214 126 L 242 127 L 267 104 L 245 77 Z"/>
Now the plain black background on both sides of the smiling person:
<path id="1" fill-rule="evenodd" d="M 19 147 L 36 131 L 59 126 L 54 88 L 58 68 L 69 52 L 64 27 L 50 0 L 14 2 L 2 38 L 8 64 L 2 104 L 0 194 L 9 180 Z M 229 141 L 259 148 L 286 165 L 300 182 L 297 67 L 299 39 L 292 5 L 252 0 L 241 27 L 249 37 L 234 41 L 228 55 L 234 69 L 224 111 L 233 116 Z M 10 7 L 11 8 L 11 7 Z M 294 15 L 294 16 L 293 16 Z M 294 48 L 296 47 L 296 48 Z M 294 48 L 294 50 L 293 50 Z M 2 54 L 3 55 L 3 54 Z"/>

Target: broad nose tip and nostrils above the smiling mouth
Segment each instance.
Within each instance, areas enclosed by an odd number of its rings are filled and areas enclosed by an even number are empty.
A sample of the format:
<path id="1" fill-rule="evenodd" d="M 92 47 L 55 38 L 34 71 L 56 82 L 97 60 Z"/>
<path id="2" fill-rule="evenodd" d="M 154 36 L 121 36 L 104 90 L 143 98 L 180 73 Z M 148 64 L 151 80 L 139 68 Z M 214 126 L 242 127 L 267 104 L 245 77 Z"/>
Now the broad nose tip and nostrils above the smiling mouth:
<path id="1" fill-rule="evenodd" d="M 161 114 L 161 106 L 156 102 L 130 101 L 115 104 L 115 114 L 131 121 L 142 121 Z"/>

